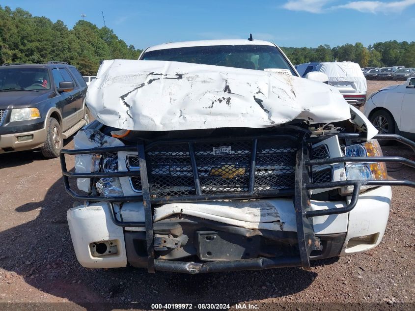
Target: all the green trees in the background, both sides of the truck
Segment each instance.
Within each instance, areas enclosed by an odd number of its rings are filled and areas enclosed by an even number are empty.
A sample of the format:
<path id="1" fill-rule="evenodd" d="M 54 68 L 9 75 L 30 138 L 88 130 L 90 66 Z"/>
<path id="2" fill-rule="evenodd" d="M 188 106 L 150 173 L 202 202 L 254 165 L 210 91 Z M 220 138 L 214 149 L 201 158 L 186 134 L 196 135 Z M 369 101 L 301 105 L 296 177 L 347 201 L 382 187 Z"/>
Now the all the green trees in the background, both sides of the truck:
<path id="1" fill-rule="evenodd" d="M 364 47 L 360 42 L 331 48 L 289 48 L 282 50 L 294 64 L 310 61 L 354 61 L 360 67 L 404 65 L 415 67 L 415 42 L 377 42 Z M 21 8 L 0 6 L 0 62 L 43 63 L 66 61 L 83 75 L 95 75 L 103 59 L 138 59 L 141 50 L 119 39 L 108 27 L 80 20 L 69 29 L 61 20 L 53 23 L 32 16 Z"/>

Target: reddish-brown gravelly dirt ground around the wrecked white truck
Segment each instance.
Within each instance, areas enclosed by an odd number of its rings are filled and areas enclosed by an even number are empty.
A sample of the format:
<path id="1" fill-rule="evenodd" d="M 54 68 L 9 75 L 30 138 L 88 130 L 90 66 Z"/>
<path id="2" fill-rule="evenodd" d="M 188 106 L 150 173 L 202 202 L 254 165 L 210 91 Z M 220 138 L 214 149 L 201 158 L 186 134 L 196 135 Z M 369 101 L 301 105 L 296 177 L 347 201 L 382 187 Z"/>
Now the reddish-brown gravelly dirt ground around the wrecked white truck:
<path id="1" fill-rule="evenodd" d="M 369 92 L 392 83 L 369 81 Z M 73 141 L 65 141 L 65 147 L 72 148 Z M 384 151 L 411 156 L 400 146 Z M 393 165 L 389 170 L 392 178 L 415 180 L 414 169 Z M 192 276 L 132 267 L 83 268 L 66 222 L 74 200 L 63 188 L 59 160 L 45 160 L 39 151 L 3 154 L 0 176 L 0 309 L 16 307 L 7 302 L 73 302 L 53 305 L 68 310 L 103 310 L 100 303 L 105 302 L 115 304 L 106 310 L 131 308 L 123 303 L 146 310 L 153 303 L 233 308 L 250 303 L 260 310 L 287 308 L 285 303 L 292 302 L 379 304 L 363 304 L 366 310 L 415 303 L 415 190 L 407 187 L 393 187 L 385 237 L 374 250 L 318 262 L 310 272 L 291 268 Z"/>

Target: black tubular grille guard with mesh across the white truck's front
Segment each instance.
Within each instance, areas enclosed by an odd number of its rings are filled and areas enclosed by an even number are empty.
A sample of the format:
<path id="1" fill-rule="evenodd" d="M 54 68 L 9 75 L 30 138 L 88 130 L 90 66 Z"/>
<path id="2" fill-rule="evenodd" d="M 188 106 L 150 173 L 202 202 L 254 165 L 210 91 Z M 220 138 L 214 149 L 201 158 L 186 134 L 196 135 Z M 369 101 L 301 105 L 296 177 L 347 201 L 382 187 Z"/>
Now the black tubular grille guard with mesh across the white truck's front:
<path id="1" fill-rule="evenodd" d="M 315 236 L 313 230 L 313 218 L 314 216 L 341 214 L 350 212 L 357 204 L 359 199 L 360 187 L 364 185 L 371 186 L 410 186 L 415 188 L 415 182 L 409 180 L 347 180 L 347 181 L 329 181 L 327 176 L 319 175 L 313 176 L 313 180 L 310 179 L 310 171 L 313 166 L 329 165 L 341 162 L 367 162 L 367 157 L 340 157 L 340 158 L 328 158 L 323 155 L 319 155 L 317 158 L 310 159 L 311 145 L 319 141 L 323 141 L 327 138 L 335 135 L 326 135 L 324 137 L 310 138 L 307 135 L 301 136 L 294 135 L 263 135 L 257 137 L 245 137 L 243 139 L 232 138 L 231 141 L 236 146 L 239 146 L 236 157 L 238 157 L 238 168 L 232 168 L 229 172 L 229 161 L 224 160 L 223 166 L 219 171 L 220 176 L 215 175 L 215 171 L 210 166 L 211 159 L 209 154 L 201 146 L 209 145 L 213 143 L 215 146 L 223 146 L 221 141 L 229 141 L 229 139 L 193 139 L 193 140 L 169 140 L 169 141 L 155 141 L 147 145 L 138 143 L 135 146 L 120 146 L 120 147 L 106 147 L 106 148 L 91 148 L 91 149 L 78 149 L 68 150 L 63 149 L 60 153 L 60 164 L 63 174 L 63 182 L 65 190 L 73 198 L 86 200 L 86 201 L 107 201 L 112 222 L 117 226 L 123 227 L 145 227 L 147 237 L 147 254 L 148 254 L 148 271 L 153 272 L 155 270 L 184 272 L 184 273 L 204 273 L 212 271 L 236 271 L 236 270 L 248 270 L 248 269 L 265 269 L 276 267 L 288 267 L 288 266 L 301 266 L 305 270 L 310 270 L 309 258 L 313 250 L 318 250 L 320 247 L 320 240 Z M 348 139 L 351 141 L 364 141 L 365 134 L 355 133 L 340 133 L 337 134 L 339 139 Z M 394 134 L 380 134 L 374 137 L 377 140 L 393 140 L 399 141 L 405 145 L 410 146 L 415 152 L 415 142 L 403 138 Z M 241 142 L 242 141 L 242 142 Z M 249 141 L 250 153 L 248 154 L 244 150 L 247 149 L 247 141 Z M 281 163 L 278 166 L 278 172 L 282 172 L 285 175 L 285 183 L 279 184 L 278 174 L 263 174 L 261 171 L 261 164 L 269 163 L 269 157 L 272 154 L 278 153 L 277 150 L 281 149 L 281 145 L 272 146 L 272 142 L 286 141 L 289 142 L 288 147 L 283 146 L 284 151 L 280 159 Z M 162 187 L 157 188 L 160 180 L 158 178 L 164 178 L 167 176 L 163 171 L 166 169 L 166 162 L 168 159 L 159 157 L 154 159 L 158 152 L 162 152 L 162 145 L 168 144 L 182 145 L 182 149 L 177 150 L 175 157 L 185 156 L 186 159 L 181 159 L 179 162 L 184 165 L 185 170 L 175 170 L 173 174 L 168 176 L 175 176 L 179 173 L 180 178 L 187 178 L 192 181 L 189 187 L 190 189 L 179 189 L 177 193 L 166 193 L 166 189 Z M 271 146 L 270 146 L 271 143 Z M 244 146 L 242 148 L 242 146 Z M 231 146 L 232 147 L 232 146 Z M 161 149 L 160 149 L 161 148 Z M 235 150 L 235 149 L 234 149 Z M 267 151 L 268 150 L 268 151 Z M 274 150 L 269 152 L 269 150 Z M 130 151 L 138 152 L 138 161 L 135 160 L 135 164 L 139 164 L 140 171 L 140 183 L 136 180 L 137 184 L 141 185 L 142 193 L 137 196 L 129 197 L 99 197 L 92 195 L 79 195 L 75 193 L 69 184 L 69 178 L 91 178 L 97 180 L 102 177 L 131 177 L 138 178 L 138 171 L 124 171 L 124 172 L 94 172 L 94 173 L 73 173 L 69 172 L 66 167 L 65 155 L 78 155 L 78 154 L 100 154 L 110 153 L 118 151 Z M 219 156 L 222 157 L 221 152 L 225 152 L 226 148 L 219 149 Z M 288 152 L 287 152 L 288 151 Z M 319 150 L 322 151 L 322 150 Z M 324 150 L 323 150 L 324 153 Z M 287 155 L 289 154 L 289 155 Z M 224 157 L 226 158 L 226 157 Z M 153 162 L 150 162 L 153 160 Z M 397 162 L 406 166 L 415 168 L 415 161 L 403 158 L 403 157 L 370 157 L 370 162 Z M 271 159 L 272 161 L 272 159 Z M 150 163 L 149 163 L 150 162 Z M 287 165 L 290 164 L 290 165 Z M 259 169 L 258 169 L 259 168 Z M 171 168 L 169 167 L 169 172 Z M 245 169 L 245 170 L 238 170 Z M 156 171 L 159 174 L 154 175 Z M 213 172 L 212 172 L 213 171 Z M 161 174 L 160 174 L 161 172 Z M 180 175 L 180 173 L 182 175 Z M 228 173 L 236 173 L 239 179 L 235 179 L 238 185 L 233 184 L 229 187 L 225 187 L 229 191 L 217 191 L 215 180 L 225 175 L 228 177 Z M 162 176 L 162 177 L 160 177 Z M 290 178 L 286 178 L 291 176 Z M 323 176 L 323 177 L 322 177 Z M 213 177 L 213 178 L 210 178 Z M 216 178 L 218 177 L 218 178 Z M 236 176 L 235 176 L 236 177 Z M 235 178 L 234 177 L 234 178 Z M 210 179 L 209 179 L 210 178 Z M 277 178 L 277 180 L 275 180 Z M 173 178 L 174 179 L 174 178 Z M 232 179 L 232 178 L 230 178 Z M 264 181 L 265 179 L 265 181 Z M 274 180 L 275 187 L 264 187 L 264 182 L 272 183 Z M 170 180 L 170 182 L 172 182 Z M 291 185 L 292 186 L 287 186 Z M 311 210 L 310 206 L 310 192 L 312 189 L 328 189 L 338 188 L 345 186 L 353 186 L 353 193 L 351 195 L 350 203 L 341 208 L 325 209 L 325 210 Z M 216 188 L 215 188 L 216 187 Z M 237 188 L 232 188 L 237 187 Z M 222 187 L 223 188 L 223 187 Z M 228 189 L 229 188 L 229 189 Z M 266 189 L 264 189 L 266 188 Z M 212 189 L 216 189 L 213 191 Z M 234 190 L 234 191 L 230 191 Z M 236 190 L 236 191 L 235 191 Z M 159 191 L 159 196 L 154 195 L 154 191 Z M 170 191 L 170 190 L 169 190 Z M 170 196 L 166 196 L 170 195 Z M 220 265 L 216 265 L 215 262 L 210 263 L 194 263 L 184 261 L 166 261 L 155 259 L 153 248 L 153 224 L 152 224 L 152 204 L 162 204 L 168 202 L 192 202 L 192 201 L 208 201 L 208 200 L 223 200 L 223 199 L 250 199 L 250 198 L 276 198 L 282 196 L 292 196 L 294 198 L 294 207 L 297 220 L 297 235 L 299 242 L 300 258 L 254 258 L 254 259 L 240 259 L 230 260 L 228 262 L 221 262 Z M 124 222 L 119 221 L 114 216 L 114 210 L 111 202 L 124 202 L 124 201 L 142 201 L 145 209 L 145 222 Z"/>

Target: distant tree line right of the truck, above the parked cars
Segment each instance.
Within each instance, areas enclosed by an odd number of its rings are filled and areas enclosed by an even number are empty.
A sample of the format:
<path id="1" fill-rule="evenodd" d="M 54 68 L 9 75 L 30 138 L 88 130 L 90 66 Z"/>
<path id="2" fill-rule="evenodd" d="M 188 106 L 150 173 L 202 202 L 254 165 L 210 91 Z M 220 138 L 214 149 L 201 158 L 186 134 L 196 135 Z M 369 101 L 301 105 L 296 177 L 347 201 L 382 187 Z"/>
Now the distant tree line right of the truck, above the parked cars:
<path id="1" fill-rule="evenodd" d="M 310 61 L 353 61 L 364 67 L 388 67 L 403 65 L 415 67 L 415 42 L 396 40 L 377 42 L 367 48 L 360 42 L 331 48 L 319 45 L 317 48 L 281 48 L 293 64 Z"/>

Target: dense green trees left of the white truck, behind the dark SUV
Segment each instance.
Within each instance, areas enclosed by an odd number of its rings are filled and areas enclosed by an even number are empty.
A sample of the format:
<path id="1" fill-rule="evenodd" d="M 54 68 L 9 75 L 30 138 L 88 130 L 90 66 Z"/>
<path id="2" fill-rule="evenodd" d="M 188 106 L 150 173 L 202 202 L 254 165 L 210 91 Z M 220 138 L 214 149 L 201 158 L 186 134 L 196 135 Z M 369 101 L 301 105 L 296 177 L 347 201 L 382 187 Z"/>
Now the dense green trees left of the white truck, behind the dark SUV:
<path id="1" fill-rule="evenodd" d="M 80 20 L 72 29 L 21 8 L 0 6 L 0 62 L 65 61 L 85 76 L 96 75 L 103 59 L 138 59 L 141 50 L 127 45 L 112 29 Z"/>

